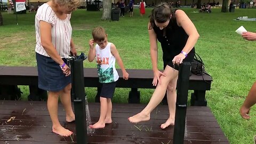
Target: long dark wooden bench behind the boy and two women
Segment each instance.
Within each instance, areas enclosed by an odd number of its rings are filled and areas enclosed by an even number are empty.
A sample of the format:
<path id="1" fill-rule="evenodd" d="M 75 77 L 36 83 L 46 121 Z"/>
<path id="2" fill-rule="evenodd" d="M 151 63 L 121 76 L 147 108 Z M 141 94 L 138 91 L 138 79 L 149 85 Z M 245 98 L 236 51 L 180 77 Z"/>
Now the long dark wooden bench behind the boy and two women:
<path id="1" fill-rule="evenodd" d="M 140 102 L 140 92 L 138 89 L 155 89 L 152 85 L 153 71 L 151 69 L 126 69 L 129 73 L 129 80 L 122 78 L 121 69 L 117 69 L 119 76 L 116 87 L 131 88 L 129 93 L 129 103 Z M 42 90 L 37 88 L 38 74 L 36 67 L 12 67 L 0 66 L 0 98 L 9 98 L 6 95 L 6 87 L 17 85 L 29 85 L 30 97 L 38 97 Z M 84 86 L 99 87 L 99 78 L 96 68 L 84 68 Z M 211 89 L 212 78 L 209 75 L 197 76 L 192 74 L 189 77 L 189 90 L 194 90 L 191 94 L 191 106 L 206 106 L 205 92 Z M 2 88 L 2 89 L 1 89 Z M 1 92 L 2 91 L 2 92 Z M 46 92 L 44 92 L 46 94 Z M 99 96 L 99 94 L 97 94 Z M 96 98 L 97 99 L 97 98 Z"/>

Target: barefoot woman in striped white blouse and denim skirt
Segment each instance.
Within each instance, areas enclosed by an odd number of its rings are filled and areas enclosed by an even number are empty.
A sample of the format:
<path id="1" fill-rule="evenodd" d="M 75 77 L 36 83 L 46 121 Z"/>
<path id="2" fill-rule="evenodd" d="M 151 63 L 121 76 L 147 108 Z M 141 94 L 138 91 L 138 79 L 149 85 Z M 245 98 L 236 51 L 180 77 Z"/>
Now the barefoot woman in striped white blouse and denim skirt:
<path id="1" fill-rule="evenodd" d="M 75 121 L 70 100 L 70 69 L 65 57 L 70 52 L 77 53 L 71 38 L 70 17 L 80 3 L 81 0 L 51 0 L 38 8 L 35 17 L 38 87 L 48 91 L 52 131 L 66 137 L 73 132 L 60 125 L 58 99 L 66 110 L 66 121 Z"/>

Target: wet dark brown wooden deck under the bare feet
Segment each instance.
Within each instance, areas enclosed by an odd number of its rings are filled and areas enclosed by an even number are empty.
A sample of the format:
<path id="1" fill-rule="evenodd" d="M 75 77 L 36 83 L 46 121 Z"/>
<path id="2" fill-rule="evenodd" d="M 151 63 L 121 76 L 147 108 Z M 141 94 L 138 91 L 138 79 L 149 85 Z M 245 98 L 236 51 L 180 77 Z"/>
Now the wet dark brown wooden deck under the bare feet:
<path id="1" fill-rule="evenodd" d="M 167 106 L 158 106 L 147 122 L 132 124 L 127 117 L 138 113 L 145 105 L 113 103 L 113 123 L 105 129 L 88 134 L 89 143 L 173 143 L 173 126 L 160 128 L 168 117 Z M 99 103 L 89 103 L 92 123 L 98 121 Z M 59 105 L 62 125 L 75 132 L 75 122 L 66 123 L 65 111 Z M 61 137 L 51 131 L 51 119 L 46 102 L 0 101 L 0 143 L 76 143 L 76 134 Z M 229 143 L 209 107 L 191 106 L 187 109 L 184 143 Z"/>

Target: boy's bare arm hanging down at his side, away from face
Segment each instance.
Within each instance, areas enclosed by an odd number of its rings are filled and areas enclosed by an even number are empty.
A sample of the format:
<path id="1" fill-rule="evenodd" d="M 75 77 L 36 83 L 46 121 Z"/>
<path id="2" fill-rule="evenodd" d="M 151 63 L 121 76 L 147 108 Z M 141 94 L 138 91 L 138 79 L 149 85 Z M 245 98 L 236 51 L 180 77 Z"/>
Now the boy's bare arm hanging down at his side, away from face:
<path id="1" fill-rule="evenodd" d="M 121 57 L 120 57 L 120 55 L 119 55 L 119 53 L 118 53 L 118 51 L 117 51 L 117 49 L 116 49 L 116 46 L 115 46 L 114 44 L 111 44 L 111 46 L 110 46 L 110 51 L 111 51 L 111 53 L 114 55 L 114 57 L 116 58 L 116 61 L 117 61 L 118 65 L 119 65 L 119 67 L 120 67 L 121 70 L 122 70 L 123 78 L 124 78 L 125 80 L 127 80 L 128 77 L 129 77 L 129 74 L 128 74 L 127 71 L 125 70 L 125 68 L 124 68 L 124 63 L 123 63 L 123 61 L 122 61 L 122 59 L 121 59 Z"/>

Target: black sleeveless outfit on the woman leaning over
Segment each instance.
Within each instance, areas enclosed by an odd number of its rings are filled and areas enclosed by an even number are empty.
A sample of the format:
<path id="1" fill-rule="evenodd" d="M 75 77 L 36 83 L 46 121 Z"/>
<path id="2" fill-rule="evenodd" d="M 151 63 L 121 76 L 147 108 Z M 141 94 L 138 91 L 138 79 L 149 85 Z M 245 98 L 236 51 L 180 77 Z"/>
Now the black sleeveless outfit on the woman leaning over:
<path id="1" fill-rule="evenodd" d="M 154 23 L 155 24 L 155 23 Z M 156 25 L 153 27 L 157 40 L 161 43 L 163 50 L 164 68 L 166 65 L 179 70 L 177 66 L 173 67 L 172 60 L 178 55 L 187 43 L 188 35 L 182 27 L 177 25 L 176 20 L 169 22 L 169 25 L 162 30 Z M 194 59 L 195 47 L 188 53 L 183 61 L 191 62 Z"/>

